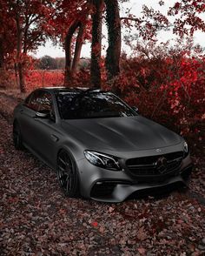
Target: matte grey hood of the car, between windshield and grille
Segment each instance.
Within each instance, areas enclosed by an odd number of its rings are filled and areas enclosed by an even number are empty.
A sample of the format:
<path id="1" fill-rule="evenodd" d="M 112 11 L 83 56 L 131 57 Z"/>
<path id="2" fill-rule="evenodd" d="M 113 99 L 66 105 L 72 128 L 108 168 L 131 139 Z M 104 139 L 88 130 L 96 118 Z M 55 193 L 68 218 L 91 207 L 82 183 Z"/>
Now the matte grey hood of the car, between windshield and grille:
<path id="1" fill-rule="evenodd" d="M 148 150 L 181 143 L 173 131 L 143 118 L 89 118 L 63 120 L 63 130 L 81 141 L 85 149 L 101 151 Z"/>

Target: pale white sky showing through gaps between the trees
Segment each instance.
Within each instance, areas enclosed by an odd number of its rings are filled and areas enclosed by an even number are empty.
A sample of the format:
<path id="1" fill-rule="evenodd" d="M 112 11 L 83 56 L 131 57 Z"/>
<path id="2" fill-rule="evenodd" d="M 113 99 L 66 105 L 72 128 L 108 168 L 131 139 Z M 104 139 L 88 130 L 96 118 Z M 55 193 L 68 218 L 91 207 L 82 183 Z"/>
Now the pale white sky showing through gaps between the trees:
<path id="1" fill-rule="evenodd" d="M 139 17 L 142 11 L 142 5 L 146 4 L 148 7 L 152 7 L 154 10 L 160 10 L 163 14 L 167 13 L 167 10 L 169 6 L 172 6 L 175 3 L 175 0 L 165 0 L 165 5 L 160 6 L 159 0 L 130 0 L 129 3 L 122 3 L 121 4 L 121 17 L 126 16 L 126 10 L 129 8 L 130 13 L 134 14 L 136 17 Z M 202 19 L 205 19 L 205 14 L 203 13 L 201 15 Z M 169 17 L 169 20 L 172 21 L 174 17 Z M 132 31 L 131 31 L 132 32 Z M 134 31 L 133 33 L 135 33 Z M 103 26 L 103 34 L 106 35 L 106 27 Z M 125 34 L 125 30 L 122 30 L 122 37 Z M 173 35 L 172 31 L 161 31 L 158 33 L 158 40 L 159 42 L 166 42 L 167 40 L 171 40 L 175 38 L 175 35 Z M 200 44 L 202 47 L 205 48 L 205 33 L 202 33 L 200 31 L 196 31 L 194 35 L 195 44 Z M 103 45 L 107 45 L 106 38 L 102 40 Z M 106 48 L 106 47 L 105 47 Z M 130 49 L 125 44 L 122 44 L 122 51 L 125 51 L 127 53 L 130 52 Z M 102 51 L 102 54 L 105 54 L 105 51 Z M 44 46 L 40 46 L 38 50 L 36 51 L 36 54 L 32 54 L 35 57 L 43 57 L 44 55 L 50 55 L 51 57 L 64 57 L 64 51 L 63 47 L 61 46 L 53 46 L 52 42 L 50 40 L 47 41 L 47 43 Z M 83 45 L 82 50 L 82 57 L 89 57 L 90 56 L 90 44 L 86 42 L 86 44 Z"/>

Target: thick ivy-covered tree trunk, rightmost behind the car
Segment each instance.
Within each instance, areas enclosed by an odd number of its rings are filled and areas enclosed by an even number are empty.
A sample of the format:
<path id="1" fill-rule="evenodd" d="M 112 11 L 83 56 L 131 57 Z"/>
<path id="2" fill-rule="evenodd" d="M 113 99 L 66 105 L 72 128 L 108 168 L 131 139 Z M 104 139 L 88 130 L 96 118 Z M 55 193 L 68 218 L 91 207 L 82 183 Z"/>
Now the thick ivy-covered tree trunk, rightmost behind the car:
<path id="1" fill-rule="evenodd" d="M 106 56 L 106 69 L 109 82 L 120 72 L 121 20 L 117 0 L 105 0 L 106 23 L 108 26 L 109 47 Z"/>

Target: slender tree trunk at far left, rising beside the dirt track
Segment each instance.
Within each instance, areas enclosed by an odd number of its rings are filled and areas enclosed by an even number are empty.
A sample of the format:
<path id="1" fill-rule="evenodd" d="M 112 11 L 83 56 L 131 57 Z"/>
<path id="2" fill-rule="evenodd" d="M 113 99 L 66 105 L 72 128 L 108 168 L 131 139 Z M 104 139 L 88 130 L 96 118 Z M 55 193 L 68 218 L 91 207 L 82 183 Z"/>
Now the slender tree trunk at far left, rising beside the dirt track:
<path id="1" fill-rule="evenodd" d="M 16 23 L 17 23 L 17 69 L 18 69 L 19 85 L 20 85 L 21 92 L 25 92 L 26 91 L 25 79 L 24 79 L 23 64 L 21 59 L 23 31 L 19 23 L 19 17 L 16 18 Z"/>

